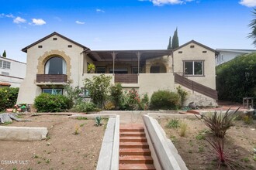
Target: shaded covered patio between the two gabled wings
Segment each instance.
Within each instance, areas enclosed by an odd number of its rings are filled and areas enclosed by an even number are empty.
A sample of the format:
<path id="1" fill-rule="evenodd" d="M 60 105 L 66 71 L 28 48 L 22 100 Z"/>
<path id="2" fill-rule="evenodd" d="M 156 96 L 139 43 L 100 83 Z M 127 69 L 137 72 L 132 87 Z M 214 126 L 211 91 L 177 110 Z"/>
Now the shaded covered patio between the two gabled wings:
<path id="1" fill-rule="evenodd" d="M 169 56 L 172 51 L 168 49 L 86 50 L 84 56 L 84 73 L 88 64 L 93 63 L 95 73 L 112 73 L 115 83 L 138 83 L 140 73 L 171 72 Z"/>

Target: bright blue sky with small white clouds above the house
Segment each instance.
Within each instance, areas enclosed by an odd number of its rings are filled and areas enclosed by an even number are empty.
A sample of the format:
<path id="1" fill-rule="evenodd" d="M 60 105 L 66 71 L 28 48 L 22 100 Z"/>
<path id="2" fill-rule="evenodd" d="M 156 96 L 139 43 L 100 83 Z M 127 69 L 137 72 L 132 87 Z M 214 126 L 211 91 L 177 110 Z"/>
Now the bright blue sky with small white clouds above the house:
<path id="1" fill-rule="evenodd" d="M 166 49 L 194 39 L 213 49 L 254 49 L 247 39 L 256 0 L 1 0 L 0 54 L 58 32 L 90 49 Z"/>

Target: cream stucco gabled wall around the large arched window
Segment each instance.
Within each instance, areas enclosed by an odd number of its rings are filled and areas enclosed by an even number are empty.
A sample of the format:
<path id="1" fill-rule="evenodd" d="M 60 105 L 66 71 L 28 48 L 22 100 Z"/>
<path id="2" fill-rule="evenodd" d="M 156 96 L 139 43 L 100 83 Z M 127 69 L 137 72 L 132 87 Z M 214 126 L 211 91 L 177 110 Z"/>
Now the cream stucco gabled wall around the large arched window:
<path id="1" fill-rule="evenodd" d="M 57 38 L 57 40 L 53 40 L 53 38 Z M 72 48 L 68 48 L 68 45 L 72 45 Z M 43 48 L 38 48 L 38 46 L 43 46 Z M 36 73 L 44 72 L 42 70 L 45 63 L 44 57 L 57 55 L 62 56 L 65 60 L 69 58 L 70 61 L 66 60 L 67 64 L 70 63 L 67 66 L 67 77 L 72 80 L 72 86 L 78 86 L 82 73 L 82 51 L 81 46 L 56 35 L 27 49 L 26 77 L 19 89 L 17 103 L 33 104 L 34 98 L 41 93 L 41 88 L 36 86 Z"/>

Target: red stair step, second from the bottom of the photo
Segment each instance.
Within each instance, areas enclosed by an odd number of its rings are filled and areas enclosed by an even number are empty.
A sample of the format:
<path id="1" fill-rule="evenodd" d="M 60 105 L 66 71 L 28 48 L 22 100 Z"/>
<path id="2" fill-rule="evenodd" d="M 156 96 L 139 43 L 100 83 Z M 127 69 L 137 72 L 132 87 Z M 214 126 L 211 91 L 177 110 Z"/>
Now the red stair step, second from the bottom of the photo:
<path id="1" fill-rule="evenodd" d="M 119 164 L 153 164 L 153 158 L 144 155 L 120 156 Z"/>

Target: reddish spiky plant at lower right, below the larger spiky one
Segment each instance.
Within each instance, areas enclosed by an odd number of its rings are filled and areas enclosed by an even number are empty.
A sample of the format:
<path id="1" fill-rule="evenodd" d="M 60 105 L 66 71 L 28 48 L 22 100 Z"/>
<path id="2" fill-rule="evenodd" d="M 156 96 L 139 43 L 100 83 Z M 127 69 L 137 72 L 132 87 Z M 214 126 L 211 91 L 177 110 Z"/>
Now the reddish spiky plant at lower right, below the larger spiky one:
<path id="1" fill-rule="evenodd" d="M 244 169 L 244 167 L 230 158 L 229 153 L 224 151 L 225 138 L 215 138 L 213 141 L 206 138 L 206 141 L 213 147 L 213 153 L 217 158 L 218 169 L 220 169 L 221 165 L 227 166 L 230 170 L 236 170 L 237 168 Z"/>

